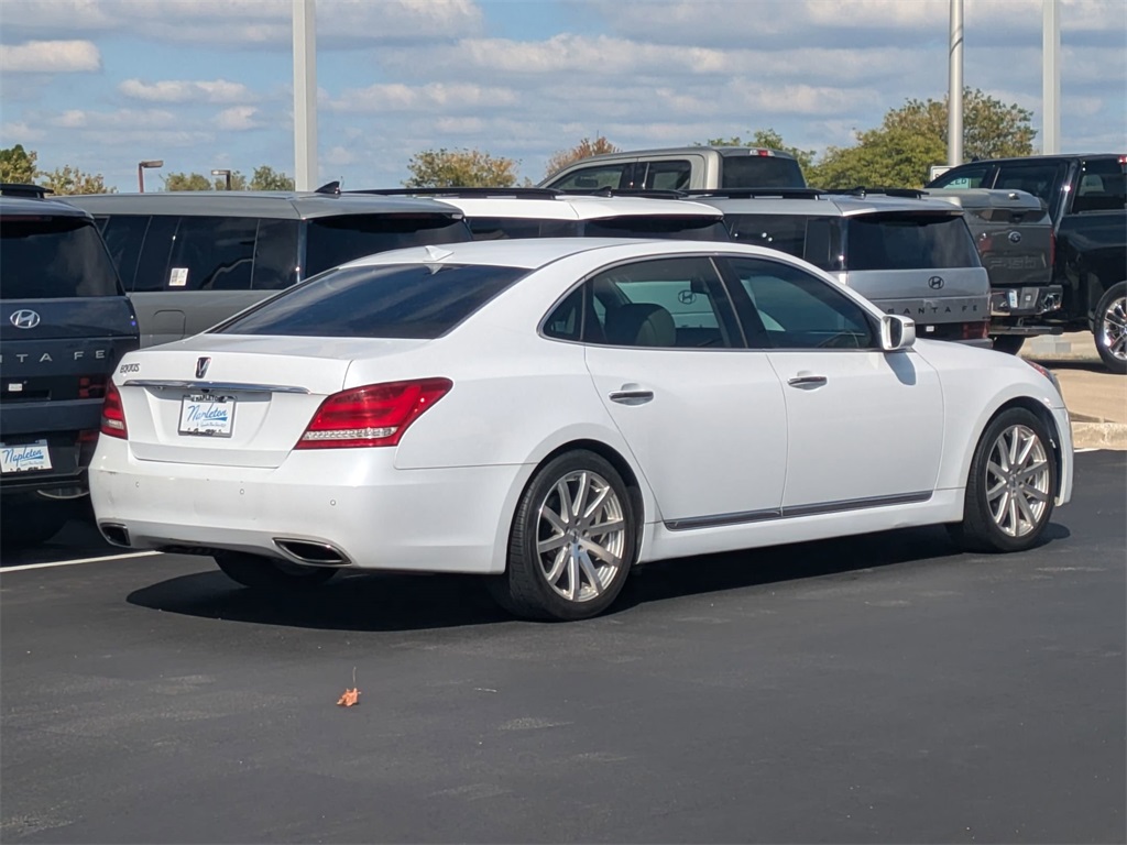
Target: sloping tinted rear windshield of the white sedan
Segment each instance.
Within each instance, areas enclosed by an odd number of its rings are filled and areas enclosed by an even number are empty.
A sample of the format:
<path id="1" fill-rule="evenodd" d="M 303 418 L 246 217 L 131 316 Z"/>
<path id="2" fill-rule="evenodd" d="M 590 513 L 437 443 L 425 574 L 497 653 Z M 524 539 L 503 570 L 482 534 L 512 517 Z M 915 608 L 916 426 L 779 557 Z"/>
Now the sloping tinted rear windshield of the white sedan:
<path id="1" fill-rule="evenodd" d="M 436 338 L 527 273 L 397 264 L 334 269 L 221 326 L 225 335 Z"/>

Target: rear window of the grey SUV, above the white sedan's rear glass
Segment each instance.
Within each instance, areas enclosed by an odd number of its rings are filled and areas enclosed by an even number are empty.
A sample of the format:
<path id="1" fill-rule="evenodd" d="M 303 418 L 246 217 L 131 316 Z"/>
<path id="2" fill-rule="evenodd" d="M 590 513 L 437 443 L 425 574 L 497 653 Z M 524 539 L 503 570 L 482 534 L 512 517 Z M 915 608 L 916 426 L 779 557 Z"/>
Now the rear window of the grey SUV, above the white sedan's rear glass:
<path id="1" fill-rule="evenodd" d="M 305 276 L 403 247 L 470 240 L 465 222 L 445 214 L 345 214 L 309 221 Z"/>

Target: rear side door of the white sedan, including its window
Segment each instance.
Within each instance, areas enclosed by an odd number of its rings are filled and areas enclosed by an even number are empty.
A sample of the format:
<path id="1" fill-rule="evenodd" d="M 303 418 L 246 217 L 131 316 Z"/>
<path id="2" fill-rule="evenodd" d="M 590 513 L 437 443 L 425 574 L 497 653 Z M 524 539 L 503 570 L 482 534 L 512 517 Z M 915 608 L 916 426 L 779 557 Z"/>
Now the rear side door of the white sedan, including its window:
<path id="1" fill-rule="evenodd" d="M 671 528 L 778 516 L 782 386 L 745 348 L 708 257 L 615 266 L 586 284 L 587 367 Z"/>

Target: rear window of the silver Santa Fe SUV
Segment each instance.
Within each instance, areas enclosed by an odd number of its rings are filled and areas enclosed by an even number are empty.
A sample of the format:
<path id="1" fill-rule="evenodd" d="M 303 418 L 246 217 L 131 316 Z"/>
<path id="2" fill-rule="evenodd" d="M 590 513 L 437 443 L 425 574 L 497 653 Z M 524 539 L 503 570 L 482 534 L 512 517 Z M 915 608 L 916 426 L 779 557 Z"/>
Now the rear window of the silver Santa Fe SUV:
<path id="1" fill-rule="evenodd" d="M 949 214 L 866 214 L 845 223 L 850 270 L 980 267 L 970 230 Z"/>

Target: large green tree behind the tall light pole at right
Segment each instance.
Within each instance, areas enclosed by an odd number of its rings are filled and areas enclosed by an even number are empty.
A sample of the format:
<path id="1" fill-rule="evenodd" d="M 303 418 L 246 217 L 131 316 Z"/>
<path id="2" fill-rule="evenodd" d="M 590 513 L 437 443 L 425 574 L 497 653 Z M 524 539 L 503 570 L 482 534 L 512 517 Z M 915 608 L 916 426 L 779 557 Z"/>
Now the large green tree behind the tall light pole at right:
<path id="1" fill-rule="evenodd" d="M 979 90 L 962 95 L 962 151 L 967 160 L 1029 155 L 1032 113 Z M 824 188 L 920 187 L 928 169 L 947 160 L 947 99 L 909 99 L 881 125 L 857 134 L 853 146 L 831 146 L 807 178 Z"/>

